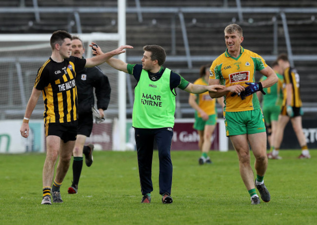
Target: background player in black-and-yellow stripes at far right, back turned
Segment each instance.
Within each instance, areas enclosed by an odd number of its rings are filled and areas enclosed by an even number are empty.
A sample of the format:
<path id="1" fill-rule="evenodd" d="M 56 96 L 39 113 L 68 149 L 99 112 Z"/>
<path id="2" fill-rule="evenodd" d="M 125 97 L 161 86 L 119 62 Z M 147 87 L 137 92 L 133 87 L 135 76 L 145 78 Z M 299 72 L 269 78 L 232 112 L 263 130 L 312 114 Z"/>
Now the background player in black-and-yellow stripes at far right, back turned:
<path id="1" fill-rule="evenodd" d="M 302 102 L 300 98 L 299 75 L 297 70 L 290 66 L 290 62 L 286 54 L 280 54 L 277 57 L 277 62 L 284 71 L 283 75 L 285 87 L 283 93 L 283 105 L 277 121 L 277 132 L 274 143 L 275 148 L 272 151 L 272 155 L 274 157 L 278 156 L 278 150 L 283 139 L 285 126 L 289 120 L 291 120 L 298 143 L 301 147 L 301 154 L 298 156 L 298 159 L 310 159 L 311 156 L 309 154 L 301 123 L 303 111 L 301 109 Z"/>

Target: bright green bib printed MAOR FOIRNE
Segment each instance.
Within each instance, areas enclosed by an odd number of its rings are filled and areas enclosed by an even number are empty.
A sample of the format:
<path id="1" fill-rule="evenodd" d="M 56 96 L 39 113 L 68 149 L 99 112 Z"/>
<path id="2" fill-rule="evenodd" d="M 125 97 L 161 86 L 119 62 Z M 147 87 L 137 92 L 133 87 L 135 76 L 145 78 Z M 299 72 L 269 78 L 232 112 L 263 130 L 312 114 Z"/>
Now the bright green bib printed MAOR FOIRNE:
<path id="1" fill-rule="evenodd" d="M 162 128 L 174 126 L 175 97 L 170 88 L 171 70 L 165 68 L 160 79 L 152 81 L 146 70 L 134 89 L 132 126 L 136 128 Z"/>

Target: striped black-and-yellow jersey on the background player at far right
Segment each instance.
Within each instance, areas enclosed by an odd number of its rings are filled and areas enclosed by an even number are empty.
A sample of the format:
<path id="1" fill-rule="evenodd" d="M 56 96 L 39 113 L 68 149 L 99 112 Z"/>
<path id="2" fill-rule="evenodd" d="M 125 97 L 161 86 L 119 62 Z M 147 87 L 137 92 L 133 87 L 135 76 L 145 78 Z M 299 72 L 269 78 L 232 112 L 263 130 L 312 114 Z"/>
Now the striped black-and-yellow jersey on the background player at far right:
<path id="1" fill-rule="evenodd" d="M 289 84 L 289 83 L 292 84 L 293 93 L 292 93 L 291 106 L 301 107 L 302 103 L 300 98 L 299 75 L 297 73 L 297 70 L 294 68 L 288 67 L 284 71 L 284 82 L 285 84 Z M 286 99 L 287 99 L 286 88 L 284 88 L 283 96 L 284 96 L 283 105 L 286 105 Z"/>

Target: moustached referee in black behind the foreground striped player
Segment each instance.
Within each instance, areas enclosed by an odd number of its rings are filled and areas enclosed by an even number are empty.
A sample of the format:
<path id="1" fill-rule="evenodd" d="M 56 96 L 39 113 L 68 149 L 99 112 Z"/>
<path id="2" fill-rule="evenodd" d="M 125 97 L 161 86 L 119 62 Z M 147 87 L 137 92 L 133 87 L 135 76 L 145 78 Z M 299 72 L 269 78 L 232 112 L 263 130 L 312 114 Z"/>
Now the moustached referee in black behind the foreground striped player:
<path id="1" fill-rule="evenodd" d="M 85 49 L 78 36 L 73 36 L 72 56 L 83 58 Z M 100 118 L 104 118 L 104 110 L 110 102 L 111 87 L 108 77 L 102 73 L 99 67 L 84 68 L 76 76 L 77 97 L 78 97 L 78 132 L 77 140 L 73 150 L 73 182 L 68 188 L 68 194 L 77 194 L 80 173 L 83 164 L 91 166 L 93 163 L 94 145 L 84 145 L 86 138 L 90 137 L 93 129 L 92 107 L 95 105 L 94 88 L 97 97 L 97 108 Z"/>

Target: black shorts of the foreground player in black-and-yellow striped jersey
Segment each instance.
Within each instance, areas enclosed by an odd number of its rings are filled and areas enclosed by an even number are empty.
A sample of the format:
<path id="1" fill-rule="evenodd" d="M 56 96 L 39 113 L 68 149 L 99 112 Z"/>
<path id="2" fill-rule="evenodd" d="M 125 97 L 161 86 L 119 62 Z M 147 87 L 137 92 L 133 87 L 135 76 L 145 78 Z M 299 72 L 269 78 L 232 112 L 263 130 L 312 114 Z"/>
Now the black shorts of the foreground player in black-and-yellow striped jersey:
<path id="1" fill-rule="evenodd" d="M 77 127 L 78 122 L 68 122 L 68 123 L 47 123 L 45 126 L 45 135 L 59 136 L 64 143 L 68 141 L 76 141 L 77 139 Z"/>

